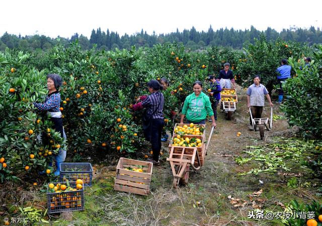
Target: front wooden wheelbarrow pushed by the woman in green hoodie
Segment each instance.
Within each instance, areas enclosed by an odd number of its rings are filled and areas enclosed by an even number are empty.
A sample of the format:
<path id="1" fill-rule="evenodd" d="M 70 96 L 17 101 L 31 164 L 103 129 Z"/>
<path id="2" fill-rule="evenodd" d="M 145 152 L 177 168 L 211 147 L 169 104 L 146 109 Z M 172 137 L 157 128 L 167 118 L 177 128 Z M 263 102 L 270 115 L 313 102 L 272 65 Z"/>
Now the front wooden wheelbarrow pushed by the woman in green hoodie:
<path id="1" fill-rule="evenodd" d="M 170 155 L 169 158 L 167 158 L 167 161 L 170 162 L 174 176 L 172 183 L 174 188 L 177 188 L 179 183 L 188 184 L 190 166 L 194 170 L 199 170 L 203 165 L 213 130 L 214 127 L 211 128 L 206 148 L 203 140 L 201 147 L 181 147 L 172 146 L 170 144 Z M 199 136 L 198 138 L 200 139 L 202 136 Z"/>

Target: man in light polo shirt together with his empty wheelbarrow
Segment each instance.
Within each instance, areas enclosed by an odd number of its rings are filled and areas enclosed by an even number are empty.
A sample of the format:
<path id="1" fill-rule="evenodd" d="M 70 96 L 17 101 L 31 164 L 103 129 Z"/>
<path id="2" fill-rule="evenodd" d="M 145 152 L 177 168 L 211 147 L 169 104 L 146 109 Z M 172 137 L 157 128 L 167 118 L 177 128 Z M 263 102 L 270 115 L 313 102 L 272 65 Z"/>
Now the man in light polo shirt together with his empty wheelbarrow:
<path id="1" fill-rule="evenodd" d="M 272 124 L 269 123 L 268 118 L 262 119 L 263 106 L 265 105 L 265 96 L 271 105 L 271 116 L 273 110 L 273 103 L 268 94 L 266 87 L 260 84 L 261 77 L 254 76 L 254 84 L 247 89 L 247 105 L 250 109 L 250 130 L 260 131 L 261 139 L 264 138 L 264 130 L 271 130 Z M 272 122 L 272 119 L 271 119 Z"/>

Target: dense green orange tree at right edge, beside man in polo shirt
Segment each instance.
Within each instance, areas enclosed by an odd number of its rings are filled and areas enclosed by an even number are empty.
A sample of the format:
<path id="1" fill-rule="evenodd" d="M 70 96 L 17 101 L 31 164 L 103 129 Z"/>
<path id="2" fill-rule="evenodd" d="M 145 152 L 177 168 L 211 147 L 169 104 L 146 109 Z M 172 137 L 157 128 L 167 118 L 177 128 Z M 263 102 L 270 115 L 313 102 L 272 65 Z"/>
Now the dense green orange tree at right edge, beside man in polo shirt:
<path id="1" fill-rule="evenodd" d="M 304 66 L 304 59 L 289 58 L 296 76 L 286 80 L 283 89 L 287 91 L 282 110 L 290 126 L 297 126 L 304 137 L 321 138 L 322 134 L 322 46 L 314 52 L 310 66 Z"/>

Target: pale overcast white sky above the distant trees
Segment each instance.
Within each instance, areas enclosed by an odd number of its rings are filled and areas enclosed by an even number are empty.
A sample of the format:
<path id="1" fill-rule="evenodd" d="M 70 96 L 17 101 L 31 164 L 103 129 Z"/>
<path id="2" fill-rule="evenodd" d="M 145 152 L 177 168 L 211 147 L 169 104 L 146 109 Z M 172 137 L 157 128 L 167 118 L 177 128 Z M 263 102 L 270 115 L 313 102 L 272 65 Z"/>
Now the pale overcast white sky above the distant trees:
<path id="1" fill-rule="evenodd" d="M 322 26 L 321 0 L 314 1 L 175 1 L 175 0 L 10 0 L 1 2 L 0 36 L 5 32 L 22 36 L 45 35 L 70 38 L 91 36 L 93 29 L 124 35 L 141 29 L 148 34 L 220 28 L 258 30 L 271 27 L 280 32 L 290 26 Z"/>

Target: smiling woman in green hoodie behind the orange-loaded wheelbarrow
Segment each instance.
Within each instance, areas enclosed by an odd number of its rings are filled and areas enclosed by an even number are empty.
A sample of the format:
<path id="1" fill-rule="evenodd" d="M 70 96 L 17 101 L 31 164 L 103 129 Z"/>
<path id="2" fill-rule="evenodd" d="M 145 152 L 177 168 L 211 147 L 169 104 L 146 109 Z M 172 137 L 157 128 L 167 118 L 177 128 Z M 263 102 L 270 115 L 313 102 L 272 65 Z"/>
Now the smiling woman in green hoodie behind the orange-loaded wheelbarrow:
<path id="1" fill-rule="evenodd" d="M 212 126 L 216 127 L 209 96 L 202 92 L 202 82 L 195 81 L 192 88 L 193 93 L 186 97 L 183 105 L 180 123 L 183 123 L 186 117 L 187 123 L 205 124 L 208 114 L 212 120 Z"/>

